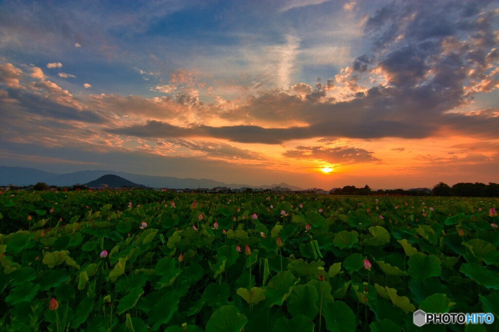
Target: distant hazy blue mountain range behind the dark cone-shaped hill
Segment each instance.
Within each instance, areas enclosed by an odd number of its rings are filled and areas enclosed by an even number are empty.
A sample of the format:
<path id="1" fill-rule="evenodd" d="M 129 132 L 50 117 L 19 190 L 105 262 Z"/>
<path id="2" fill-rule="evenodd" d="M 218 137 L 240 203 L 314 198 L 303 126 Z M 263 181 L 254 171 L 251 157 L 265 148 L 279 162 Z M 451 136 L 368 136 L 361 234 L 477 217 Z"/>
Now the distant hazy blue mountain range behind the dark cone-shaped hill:
<path id="1" fill-rule="evenodd" d="M 211 179 L 180 179 L 171 176 L 151 176 L 140 175 L 125 172 L 116 172 L 111 170 L 95 170 L 95 171 L 79 171 L 73 173 L 57 174 L 45 172 L 34 168 L 24 167 L 7 167 L 0 166 L 0 185 L 6 186 L 9 184 L 16 186 L 28 186 L 37 182 L 45 182 L 48 185 L 54 186 L 72 186 L 75 184 L 85 184 L 98 179 L 103 175 L 117 175 L 125 178 L 136 184 L 141 184 L 151 188 L 214 188 L 214 187 L 229 187 L 229 188 L 262 188 L 268 189 L 276 186 L 287 187 L 291 190 L 302 190 L 302 188 L 291 186 L 286 183 L 254 186 L 249 184 L 224 183 Z"/>

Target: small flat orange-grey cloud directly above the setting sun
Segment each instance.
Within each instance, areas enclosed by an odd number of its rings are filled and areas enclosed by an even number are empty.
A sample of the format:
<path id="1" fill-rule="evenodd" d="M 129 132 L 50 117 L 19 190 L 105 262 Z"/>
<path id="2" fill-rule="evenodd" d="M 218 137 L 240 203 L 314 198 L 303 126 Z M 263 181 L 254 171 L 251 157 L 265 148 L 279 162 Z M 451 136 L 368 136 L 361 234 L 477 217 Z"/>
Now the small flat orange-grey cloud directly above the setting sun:
<path id="1" fill-rule="evenodd" d="M 373 152 L 349 146 L 298 146 L 294 150 L 287 150 L 282 155 L 285 157 L 296 159 L 323 160 L 332 164 L 351 164 L 379 161 L 378 158 L 373 156 Z"/>

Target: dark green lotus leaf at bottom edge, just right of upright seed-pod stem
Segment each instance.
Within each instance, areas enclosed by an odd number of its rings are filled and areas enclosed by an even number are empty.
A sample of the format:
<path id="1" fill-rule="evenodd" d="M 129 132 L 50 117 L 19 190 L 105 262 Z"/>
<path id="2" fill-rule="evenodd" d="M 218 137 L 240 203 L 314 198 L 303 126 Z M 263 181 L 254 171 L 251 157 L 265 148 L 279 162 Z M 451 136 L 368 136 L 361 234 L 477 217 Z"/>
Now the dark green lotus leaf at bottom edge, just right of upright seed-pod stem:
<path id="1" fill-rule="evenodd" d="M 322 307 L 326 329 L 331 332 L 354 332 L 357 326 L 355 314 L 343 301 L 326 303 Z"/>

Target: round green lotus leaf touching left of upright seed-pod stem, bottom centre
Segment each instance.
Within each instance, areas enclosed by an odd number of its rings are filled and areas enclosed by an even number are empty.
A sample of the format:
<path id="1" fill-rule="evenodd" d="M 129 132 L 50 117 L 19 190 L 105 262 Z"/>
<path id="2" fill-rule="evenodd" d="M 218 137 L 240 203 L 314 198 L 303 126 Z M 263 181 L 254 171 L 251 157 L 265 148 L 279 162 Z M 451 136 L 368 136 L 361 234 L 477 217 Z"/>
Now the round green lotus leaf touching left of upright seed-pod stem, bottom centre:
<path id="1" fill-rule="evenodd" d="M 313 320 L 319 313 L 316 303 L 319 299 L 317 290 L 312 285 L 296 285 L 287 299 L 287 310 L 293 317 L 305 315 Z"/>

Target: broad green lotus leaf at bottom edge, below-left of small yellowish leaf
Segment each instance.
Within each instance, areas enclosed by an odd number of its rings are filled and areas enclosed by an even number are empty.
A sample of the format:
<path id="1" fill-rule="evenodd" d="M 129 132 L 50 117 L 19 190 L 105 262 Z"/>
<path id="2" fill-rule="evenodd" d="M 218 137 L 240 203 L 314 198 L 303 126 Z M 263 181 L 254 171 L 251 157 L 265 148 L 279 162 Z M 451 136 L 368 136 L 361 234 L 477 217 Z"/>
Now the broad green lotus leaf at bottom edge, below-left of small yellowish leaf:
<path id="1" fill-rule="evenodd" d="M 206 332 L 241 332 L 248 318 L 235 306 L 224 306 L 215 311 L 206 324 Z"/>

